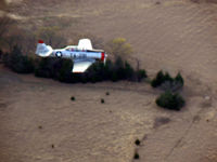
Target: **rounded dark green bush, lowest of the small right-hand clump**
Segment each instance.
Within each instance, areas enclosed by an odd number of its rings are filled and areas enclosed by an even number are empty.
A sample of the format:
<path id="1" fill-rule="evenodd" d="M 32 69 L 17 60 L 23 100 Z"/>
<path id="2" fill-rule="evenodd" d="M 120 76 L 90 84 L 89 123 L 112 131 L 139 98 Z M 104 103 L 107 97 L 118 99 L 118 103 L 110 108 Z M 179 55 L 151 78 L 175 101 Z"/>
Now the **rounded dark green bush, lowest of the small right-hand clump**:
<path id="1" fill-rule="evenodd" d="M 159 107 L 180 110 L 184 106 L 184 99 L 178 93 L 173 94 L 171 92 L 165 92 L 156 99 L 156 104 Z"/>

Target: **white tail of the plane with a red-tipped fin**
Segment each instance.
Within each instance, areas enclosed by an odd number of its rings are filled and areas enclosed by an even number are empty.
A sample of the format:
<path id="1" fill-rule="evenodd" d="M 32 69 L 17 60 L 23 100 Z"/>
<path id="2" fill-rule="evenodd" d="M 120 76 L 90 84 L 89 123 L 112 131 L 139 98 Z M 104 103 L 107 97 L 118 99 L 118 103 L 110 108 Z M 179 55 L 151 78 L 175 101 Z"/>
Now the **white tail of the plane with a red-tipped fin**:
<path id="1" fill-rule="evenodd" d="M 52 54 L 53 49 L 50 45 L 46 45 L 42 40 L 38 41 L 36 54 L 41 57 L 48 57 Z"/>

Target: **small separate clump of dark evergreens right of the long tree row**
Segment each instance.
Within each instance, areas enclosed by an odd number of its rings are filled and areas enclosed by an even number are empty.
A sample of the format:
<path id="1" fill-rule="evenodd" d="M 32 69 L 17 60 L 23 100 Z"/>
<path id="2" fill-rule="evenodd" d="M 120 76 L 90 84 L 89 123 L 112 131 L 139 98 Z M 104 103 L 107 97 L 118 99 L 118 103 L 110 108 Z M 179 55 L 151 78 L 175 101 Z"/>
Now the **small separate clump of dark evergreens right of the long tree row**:
<path id="1" fill-rule="evenodd" d="M 163 108 L 180 110 L 186 104 L 183 97 L 178 93 L 182 89 L 183 83 L 184 81 L 180 72 L 173 78 L 168 72 L 158 71 L 156 77 L 151 81 L 153 87 L 161 87 L 164 91 L 156 98 L 156 104 Z"/>

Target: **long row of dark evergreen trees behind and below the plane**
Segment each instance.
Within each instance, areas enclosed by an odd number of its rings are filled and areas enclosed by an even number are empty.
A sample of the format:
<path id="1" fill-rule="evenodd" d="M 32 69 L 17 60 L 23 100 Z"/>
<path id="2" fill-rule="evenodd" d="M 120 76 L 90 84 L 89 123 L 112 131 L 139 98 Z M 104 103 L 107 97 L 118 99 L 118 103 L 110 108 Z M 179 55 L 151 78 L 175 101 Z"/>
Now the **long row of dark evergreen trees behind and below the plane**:
<path id="1" fill-rule="evenodd" d="M 100 81 L 141 81 L 146 78 L 145 70 L 135 70 L 127 60 L 116 57 L 114 62 L 106 60 L 93 64 L 85 73 L 72 73 L 73 62 L 63 58 L 30 58 L 22 54 L 22 48 L 15 45 L 10 53 L 3 54 L 7 67 L 18 73 L 31 73 L 36 77 L 52 78 L 61 82 L 100 82 Z"/>

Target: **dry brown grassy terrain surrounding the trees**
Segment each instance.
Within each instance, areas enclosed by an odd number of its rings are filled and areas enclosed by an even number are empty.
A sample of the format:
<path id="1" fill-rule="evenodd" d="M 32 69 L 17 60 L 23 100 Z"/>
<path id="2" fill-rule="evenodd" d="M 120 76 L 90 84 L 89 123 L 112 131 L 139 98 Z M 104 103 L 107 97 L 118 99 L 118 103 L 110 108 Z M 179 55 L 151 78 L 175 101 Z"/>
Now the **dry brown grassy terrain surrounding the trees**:
<path id="1" fill-rule="evenodd" d="M 181 71 L 187 105 L 179 112 L 158 108 L 159 92 L 148 83 L 64 84 L 1 66 L 0 162 L 217 162 L 214 0 L 7 3 L 1 13 L 26 28 L 68 18 L 76 22 L 65 28 L 68 36 L 77 30 L 104 41 L 126 38 L 149 76 Z"/>

